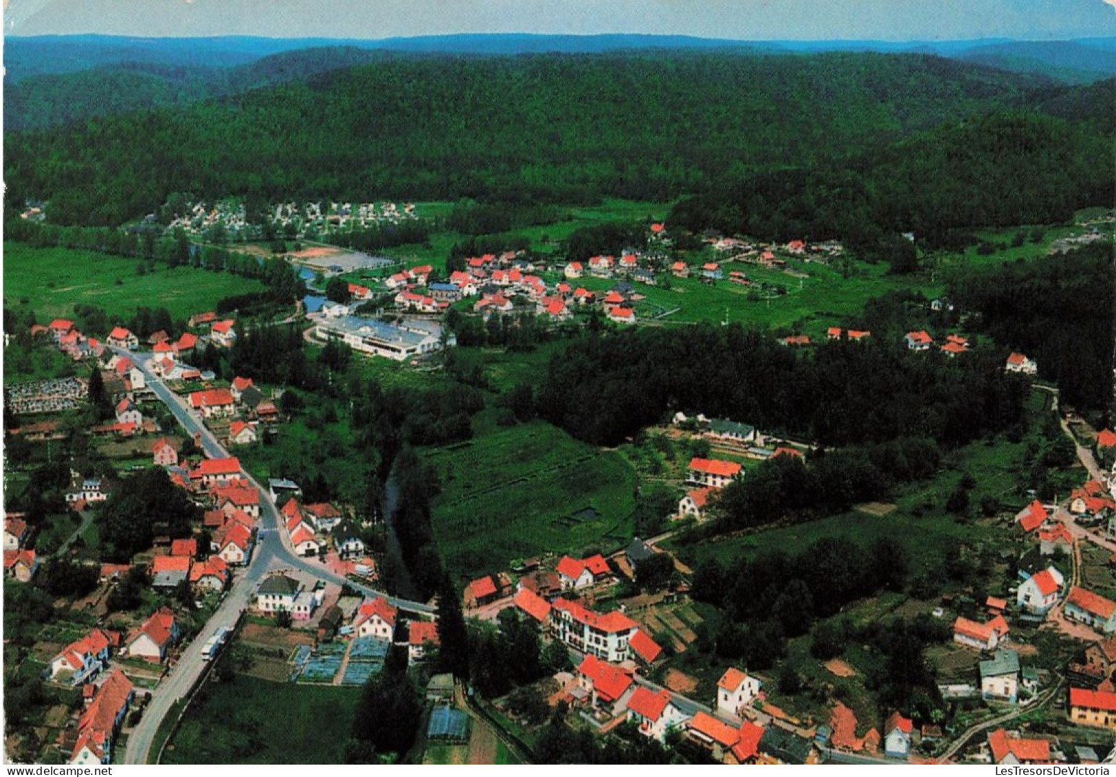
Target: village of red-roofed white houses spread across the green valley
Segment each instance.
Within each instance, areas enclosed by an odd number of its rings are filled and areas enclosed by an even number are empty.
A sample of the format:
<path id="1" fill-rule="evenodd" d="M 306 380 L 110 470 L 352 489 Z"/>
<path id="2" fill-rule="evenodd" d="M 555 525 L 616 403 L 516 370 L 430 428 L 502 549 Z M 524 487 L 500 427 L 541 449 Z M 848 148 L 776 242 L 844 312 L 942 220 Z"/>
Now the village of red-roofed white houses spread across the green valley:
<path id="1" fill-rule="evenodd" d="M 651 232 L 663 236 L 662 226 L 652 224 Z M 719 240 L 714 248 L 745 262 L 777 261 L 773 247 Z M 807 249 L 801 241 L 780 250 L 810 250 L 822 258 L 840 253 L 839 246 Z M 340 338 L 357 353 L 403 361 L 452 347 L 453 340 L 441 335 L 437 317 L 463 305 L 485 320 L 527 310 L 562 323 L 575 310 L 594 310 L 627 325 L 637 320 L 634 304 L 641 299 L 633 284 L 654 282 L 653 271 L 658 270 L 636 253 L 618 260 L 591 257 L 585 266 L 567 263 L 561 279 L 550 285 L 536 275 L 546 270 L 514 252 L 484 255 L 465 265 L 468 269 L 451 272 L 444 282 L 434 280 L 430 266 L 394 272 L 375 289 L 347 282 L 341 296 L 348 301 L 324 301 L 314 311 L 308 300 L 316 300 L 304 299 L 307 333 L 326 343 Z M 711 281 L 723 279 L 720 263 L 690 268 L 675 262 L 670 272 L 683 277 L 692 269 Z M 735 274 L 730 281 L 747 282 Z M 617 280 L 598 298 L 577 286 L 583 275 L 627 280 Z M 475 303 L 466 301 L 473 297 Z M 356 304 L 373 299 L 387 301 L 405 316 L 394 323 L 355 317 Z M 263 488 L 234 455 L 263 445 L 289 420 L 280 387 L 243 375 L 221 381 L 190 364 L 203 349 L 231 348 L 243 330 L 237 318 L 213 311 L 191 316 L 177 336 L 157 332 L 143 342 L 122 326 L 86 334 L 73 320 L 59 318 L 31 327 L 30 337 L 41 347 L 92 365 L 93 373 L 89 380 L 9 386 L 11 410 L 20 416 L 56 419 L 90 402 L 105 403 L 110 416 L 84 432 L 90 444 L 96 440 L 121 447 L 124 459 L 136 462 L 129 470 L 164 472 L 166 488 L 183 495 L 194 518 L 185 526 L 156 522 L 151 545 L 127 563 L 78 551 L 81 572 L 67 574 L 88 572 L 93 578 L 95 570 L 95 585 L 70 605 L 71 620 L 65 626 L 56 624 L 49 634 L 32 639 L 25 659 L 27 671 L 58 689 L 59 700 L 73 701 L 51 707 L 52 722 L 45 728 L 10 735 L 10 751 L 71 764 L 113 762 L 122 739 L 126 741 L 142 720 L 150 696 L 167 682 L 176 664 L 200 650 L 209 653 L 203 655 L 208 666 L 221 651 L 254 655 L 246 660 L 254 661 L 257 671 L 300 684 L 363 685 L 381 670 L 393 645 L 405 651 L 412 665 L 433 665 L 442 633 L 439 608 L 415 610 L 386 594 L 368 593 L 379 581 L 377 535 L 383 527 L 362 521 L 350 505 L 304 499 L 301 487 L 291 480 L 273 478 Z M 857 342 L 872 333 L 831 327 L 827 337 Z M 783 342 L 809 345 L 806 336 Z M 955 332 L 940 339 L 925 330 L 910 332 L 903 345 L 915 352 L 941 349 L 949 357 L 970 349 L 968 337 Z M 1003 370 L 1032 375 L 1036 364 L 1011 353 Z M 176 415 L 194 419 L 198 431 L 183 435 L 164 403 L 176 406 Z M 677 413 L 664 429 L 682 440 L 700 440 L 709 451 L 692 457 L 675 482 L 677 505 L 671 518 L 682 525 L 705 521 L 720 492 L 747 478 L 754 462 L 804 459 L 815 450 L 810 441 L 702 414 Z M 9 432 L 28 444 L 73 433 L 62 420 L 22 423 Z M 1101 461 L 1110 460 L 1114 449 L 1116 435 L 1108 430 L 1096 433 L 1094 450 Z M 1083 461 L 1091 462 L 1091 455 L 1086 451 Z M 1116 640 L 1116 602 L 1105 595 L 1116 588 L 1112 573 L 1097 578 L 1090 560 L 1099 554 L 1108 566 L 1116 564 L 1116 502 L 1104 472 L 1091 467 L 1090 477 L 1068 496 L 1019 505 L 1013 519 L 1002 524 L 1020 559 L 1017 573 L 1006 575 L 994 595 L 990 592 L 982 602 L 951 597 L 933 608 L 934 618 L 950 624 L 954 644 L 940 659 L 942 666 L 953 668 L 939 668 L 949 675 L 940 692 L 951 704 L 973 710 L 968 717 L 972 726 L 963 731 L 947 732 L 927 721 L 915 726 L 905 717 L 910 711 L 898 709 L 884 710 L 878 720 L 858 720 L 841 701 L 828 716 L 804 717 L 786 707 L 782 683 L 732 663 L 716 669 L 715 690 L 706 694 L 695 693 L 683 672 L 672 669 L 664 675 L 660 670 L 691 646 L 701 623 L 687 604 L 692 570 L 660 545 L 670 530 L 650 541 L 628 538 L 607 555 L 508 559 L 507 568 L 469 581 L 460 605 L 468 617 L 493 624 L 514 613 L 535 630 L 541 645 L 564 646 L 568 665 L 547 675 L 539 688 L 550 709 L 589 731 L 607 733 L 631 723 L 639 736 L 730 764 L 814 764 L 845 756 L 879 762 L 1095 762 L 1107 748 L 1081 742 L 1110 742 L 1110 737 L 1071 736 L 1064 741 L 1049 732 L 1021 731 L 1012 722 L 1017 711 L 1046 708 L 1065 710 L 1071 731 L 1116 726 L 1116 649 L 1109 644 Z M 113 471 L 71 471 L 66 509 L 87 522 L 125 482 Z M 272 514 L 275 525 L 264 520 Z M 36 585 L 45 568 L 75 564 L 67 553 L 75 550 L 73 540 L 40 553 L 36 534 L 26 515 L 6 515 L 4 573 L 10 581 Z M 309 563 L 269 569 L 246 588 L 243 581 L 264 537 L 276 537 L 292 557 Z M 647 569 L 653 567 L 657 582 L 647 587 Z M 206 616 L 238 585 L 244 588 L 244 606 L 235 614 L 231 639 L 219 630 L 219 636 L 200 649 Z M 106 606 L 124 588 L 142 604 L 123 612 Z M 1045 632 L 1071 641 L 1070 662 L 1051 665 L 1036 655 L 1035 635 Z M 287 654 L 285 648 L 277 658 L 275 645 L 294 650 Z M 429 670 L 422 677 L 429 677 Z M 440 677 L 430 680 L 432 689 Z M 436 691 L 430 693 L 437 698 Z M 517 717 L 507 700 L 496 701 L 496 709 Z M 977 727 L 995 716 L 1002 726 Z M 433 726 L 433 717 L 431 721 Z M 46 739 L 39 733 L 44 730 Z"/>

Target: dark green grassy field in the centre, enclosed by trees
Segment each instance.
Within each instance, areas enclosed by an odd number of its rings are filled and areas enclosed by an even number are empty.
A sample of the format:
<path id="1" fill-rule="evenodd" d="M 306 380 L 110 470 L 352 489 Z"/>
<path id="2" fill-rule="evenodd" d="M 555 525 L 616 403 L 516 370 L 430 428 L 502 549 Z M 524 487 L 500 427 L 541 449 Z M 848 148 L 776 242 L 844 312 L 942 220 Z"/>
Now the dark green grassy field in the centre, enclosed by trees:
<path id="1" fill-rule="evenodd" d="M 434 534 L 455 575 L 631 538 L 635 476 L 627 462 L 541 421 L 430 449 L 424 458 L 441 481 Z M 597 517 L 575 516 L 589 508 Z"/>

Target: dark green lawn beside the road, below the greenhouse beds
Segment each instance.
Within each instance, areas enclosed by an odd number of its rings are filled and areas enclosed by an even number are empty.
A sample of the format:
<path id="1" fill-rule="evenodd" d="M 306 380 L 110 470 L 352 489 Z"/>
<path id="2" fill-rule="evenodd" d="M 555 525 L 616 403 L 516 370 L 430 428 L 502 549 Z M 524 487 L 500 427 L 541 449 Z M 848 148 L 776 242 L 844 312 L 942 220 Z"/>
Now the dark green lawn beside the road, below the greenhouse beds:
<path id="1" fill-rule="evenodd" d="M 297 685 L 238 674 L 208 683 L 164 764 L 340 764 L 359 688 Z M 323 726 L 329 721 L 328 726 Z"/>

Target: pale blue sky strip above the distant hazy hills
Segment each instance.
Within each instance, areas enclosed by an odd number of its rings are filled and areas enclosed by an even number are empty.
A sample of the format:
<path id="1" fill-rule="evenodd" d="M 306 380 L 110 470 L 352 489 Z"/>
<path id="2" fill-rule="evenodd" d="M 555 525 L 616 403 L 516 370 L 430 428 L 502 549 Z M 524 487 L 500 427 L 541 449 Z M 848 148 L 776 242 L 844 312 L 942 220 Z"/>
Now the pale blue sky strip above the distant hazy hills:
<path id="1" fill-rule="evenodd" d="M 644 32 L 740 40 L 1116 36 L 1116 0 L 6 0 L 12 35 L 388 38 Z"/>

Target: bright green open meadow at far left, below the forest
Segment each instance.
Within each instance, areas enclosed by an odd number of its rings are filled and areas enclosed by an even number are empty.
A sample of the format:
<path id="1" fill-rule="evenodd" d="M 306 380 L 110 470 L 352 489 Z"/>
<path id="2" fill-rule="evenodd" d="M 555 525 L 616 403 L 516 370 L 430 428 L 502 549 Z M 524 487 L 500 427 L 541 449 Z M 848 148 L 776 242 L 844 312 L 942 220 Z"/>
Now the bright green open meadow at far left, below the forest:
<path id="1" fill-rule="evenodd" d="M 173 318 L 211 309 L 222 297 L 260 291 L 258 280 L 191 267 L 138 275 L 135 259 L 65 248 L 4 242 L 4 307 L 40 323 L 69 316 L 77 304 L 97 305 L 109 316 L 129 317 L 137 306 L 165 307 Z M 92 333 L 96 334 L 96 333 Z"/>

